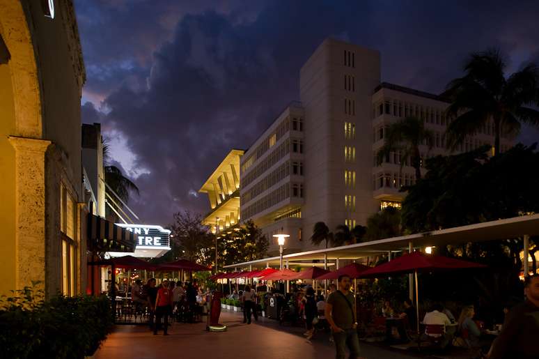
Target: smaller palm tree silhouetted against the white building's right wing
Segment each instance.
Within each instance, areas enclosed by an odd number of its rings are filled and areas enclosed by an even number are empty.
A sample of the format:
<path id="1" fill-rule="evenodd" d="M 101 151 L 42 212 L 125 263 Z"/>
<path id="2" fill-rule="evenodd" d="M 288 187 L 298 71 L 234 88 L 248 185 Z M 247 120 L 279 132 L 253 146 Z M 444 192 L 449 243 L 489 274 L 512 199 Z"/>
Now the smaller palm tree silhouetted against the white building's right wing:
<path id="1" fill-rule="evenodd" d="M 391 123 L 386 128 L 384 146 L 377 153 L 378 165 L 382 164 L 391 152 L 399 152 L 401 171 L 409 158 L 412 167 L 416 169 L 416 180 L 419 180 L 421 178 L 419 146 L 426 144 L 430 150 L 433 145 L 433 138 L 432 131 L 426 129 L 423 121 L 416 117 L 406 117 Z"/>

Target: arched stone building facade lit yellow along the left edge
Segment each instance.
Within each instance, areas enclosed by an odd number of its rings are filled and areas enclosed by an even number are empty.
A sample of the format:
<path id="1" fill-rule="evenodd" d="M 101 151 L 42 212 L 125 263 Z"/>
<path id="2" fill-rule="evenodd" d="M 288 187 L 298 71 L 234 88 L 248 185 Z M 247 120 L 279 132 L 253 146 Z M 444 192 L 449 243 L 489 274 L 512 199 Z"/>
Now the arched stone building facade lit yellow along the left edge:
<path id="1" fill-rule="evenodd" d="M 85 80 L 72 1 L 0 1 L 0 292 L 81 293 Z"/>

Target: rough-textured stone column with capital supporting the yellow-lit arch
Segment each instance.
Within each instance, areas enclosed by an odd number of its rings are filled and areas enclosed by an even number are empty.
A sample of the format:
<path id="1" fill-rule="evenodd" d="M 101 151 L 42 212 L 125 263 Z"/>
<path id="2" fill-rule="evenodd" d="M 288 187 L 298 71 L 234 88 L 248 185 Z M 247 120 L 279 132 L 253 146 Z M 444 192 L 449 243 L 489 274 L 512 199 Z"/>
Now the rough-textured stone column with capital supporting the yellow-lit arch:
<path id="1" fill-rule="evenodd" d="M 9 141 L 15 148 L 15 287 L 39 281 L 45 290 L 45 151 L 51 142 L 14 136 Z"/>

